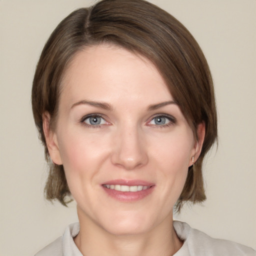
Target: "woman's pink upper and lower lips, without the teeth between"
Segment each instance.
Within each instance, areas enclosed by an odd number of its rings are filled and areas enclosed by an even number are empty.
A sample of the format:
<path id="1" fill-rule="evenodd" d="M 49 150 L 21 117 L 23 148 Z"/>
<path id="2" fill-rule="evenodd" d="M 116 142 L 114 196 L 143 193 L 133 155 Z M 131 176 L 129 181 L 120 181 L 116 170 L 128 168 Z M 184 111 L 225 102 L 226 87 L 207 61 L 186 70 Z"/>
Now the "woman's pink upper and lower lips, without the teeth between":
<path id="1" fill-rule="evenodd" d="M 138 185 L 143 185 L 143 186 L 148 186 L 148 188 L 144 190 L 139 190 L 136 192 L 131 192 L 131 191 L 117 191 L 114 189 L 109 189 L 103 186 L 104 184 L 109 184 L 109 185 L 126 185 L 126 186 L 138 186 Z M 101 187 L 104 189 L 104 191 L 107 193 L 107 195 L 111 196 L 112 198 L 118 200 L 118 201 L 126 201 L 126 202 L 131 202 L 131 201 L 137 201 L 140 200 L 147 195 L 149 195 L 155 185 L 151 182 L 141 180 L 141 179 L 132 179 L 132 180 L 125 180 L 125 179 L 114 179 L 114 180 L 108 180 L 105 181 L 104 183 L 101 184 Z"/>

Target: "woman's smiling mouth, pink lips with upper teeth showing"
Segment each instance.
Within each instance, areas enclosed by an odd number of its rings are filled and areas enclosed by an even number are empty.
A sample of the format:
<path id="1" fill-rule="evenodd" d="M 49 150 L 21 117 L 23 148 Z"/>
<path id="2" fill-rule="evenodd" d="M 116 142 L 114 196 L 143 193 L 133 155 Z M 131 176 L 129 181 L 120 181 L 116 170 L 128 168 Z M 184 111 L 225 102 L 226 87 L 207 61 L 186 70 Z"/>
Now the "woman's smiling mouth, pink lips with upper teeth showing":
<path id="1" fill-rule="evenodd" d="M 110 197 L 118 201 L 136 201 L 149 195 L 155 184 L 144 180 L 116 179 L 103 183 L 102 188 Z"/>

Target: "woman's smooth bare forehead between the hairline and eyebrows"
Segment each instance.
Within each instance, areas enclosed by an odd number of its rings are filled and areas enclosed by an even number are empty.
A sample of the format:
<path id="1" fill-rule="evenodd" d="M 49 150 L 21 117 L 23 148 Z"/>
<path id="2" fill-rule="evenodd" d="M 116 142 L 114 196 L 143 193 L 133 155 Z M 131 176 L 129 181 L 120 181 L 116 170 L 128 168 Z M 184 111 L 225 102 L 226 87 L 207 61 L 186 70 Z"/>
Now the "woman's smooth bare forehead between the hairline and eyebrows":
<path id="1" fill-rule="evenodd" d="M 77 52 L 62 79 L 60 102 L 118 98 L 148 103 L 172 99 L 162 76 L 147 58 L 122 47 L 99 44 Z M 70 102 L 71 103 L 71 102 Z"/>

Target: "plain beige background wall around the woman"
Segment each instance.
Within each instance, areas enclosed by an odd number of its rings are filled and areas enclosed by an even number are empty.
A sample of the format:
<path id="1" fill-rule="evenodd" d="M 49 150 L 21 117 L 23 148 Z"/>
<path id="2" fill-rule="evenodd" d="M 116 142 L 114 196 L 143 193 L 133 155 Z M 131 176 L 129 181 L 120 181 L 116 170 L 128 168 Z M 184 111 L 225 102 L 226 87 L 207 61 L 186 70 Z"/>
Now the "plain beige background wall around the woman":
<path id="1" fill-rule="evenodd" d="M 76 220 L 43 199 L 46 165 L 30 90 L 57 23 L 91 0 L 0 0 L 0 255 L 33 255 Z M 215 82 L 219 146 L 204 168 L 207 201 L 176 219 L 256 248 L 256 1 L 152 0 L 201 45 Z"/>

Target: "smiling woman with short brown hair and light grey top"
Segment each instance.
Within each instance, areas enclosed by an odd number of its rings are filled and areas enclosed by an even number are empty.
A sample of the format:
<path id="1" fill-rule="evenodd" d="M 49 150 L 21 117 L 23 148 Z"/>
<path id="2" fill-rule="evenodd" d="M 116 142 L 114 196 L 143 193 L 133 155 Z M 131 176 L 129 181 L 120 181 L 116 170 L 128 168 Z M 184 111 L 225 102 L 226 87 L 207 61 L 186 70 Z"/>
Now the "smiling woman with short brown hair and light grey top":
<path id="1" fill-rule="evenodd" d="M 205 199 L 202 160 L 217 137 L 198 44 L 142 0 L 102 0 L 51 34 L 33 80 L 46 198 L 77 202 L 79 224 L 37 255 L 255 255 L 172 220 Z"/>

